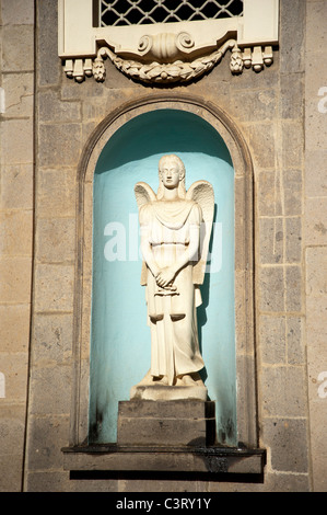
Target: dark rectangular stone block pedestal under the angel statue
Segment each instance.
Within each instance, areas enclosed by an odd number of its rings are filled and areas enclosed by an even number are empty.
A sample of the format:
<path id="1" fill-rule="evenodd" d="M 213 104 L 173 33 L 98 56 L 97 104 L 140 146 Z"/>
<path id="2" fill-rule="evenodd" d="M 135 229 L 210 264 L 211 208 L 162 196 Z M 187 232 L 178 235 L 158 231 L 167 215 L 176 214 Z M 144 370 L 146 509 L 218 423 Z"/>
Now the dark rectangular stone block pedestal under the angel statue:
<path id="1" fill-rule="evenodd" d="M 195 399 L 120 401 L 117 430 L 119 446 L 213 445 L 214 402 Z"/>

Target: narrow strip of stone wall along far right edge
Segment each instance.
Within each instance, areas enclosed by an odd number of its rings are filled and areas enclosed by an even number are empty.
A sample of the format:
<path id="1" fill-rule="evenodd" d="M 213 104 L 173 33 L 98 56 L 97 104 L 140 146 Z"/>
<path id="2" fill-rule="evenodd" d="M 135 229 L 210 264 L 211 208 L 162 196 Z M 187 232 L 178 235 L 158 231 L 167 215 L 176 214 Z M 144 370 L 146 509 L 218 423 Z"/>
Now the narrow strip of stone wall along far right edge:
<path id="1" fill-rule="evenodd" d="M 304 267 L 312 480 L 327 491 L 327 62 L 326 1 L 306 7 Z"/>

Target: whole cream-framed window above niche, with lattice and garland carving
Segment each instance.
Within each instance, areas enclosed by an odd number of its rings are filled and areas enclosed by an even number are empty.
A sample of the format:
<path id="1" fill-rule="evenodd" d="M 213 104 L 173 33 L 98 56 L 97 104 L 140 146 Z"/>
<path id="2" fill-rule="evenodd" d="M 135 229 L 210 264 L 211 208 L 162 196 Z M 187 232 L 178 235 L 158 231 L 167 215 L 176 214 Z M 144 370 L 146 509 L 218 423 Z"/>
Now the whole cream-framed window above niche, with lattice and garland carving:
<path id="1" fill-rule="evenodd" d="M 278 46 L 279 0 L 59 0 L 67 77 L 105 80 L 109 58 L 144 83 L 191 81 L 226 53 L 232 73 L 261 71 Z"/>

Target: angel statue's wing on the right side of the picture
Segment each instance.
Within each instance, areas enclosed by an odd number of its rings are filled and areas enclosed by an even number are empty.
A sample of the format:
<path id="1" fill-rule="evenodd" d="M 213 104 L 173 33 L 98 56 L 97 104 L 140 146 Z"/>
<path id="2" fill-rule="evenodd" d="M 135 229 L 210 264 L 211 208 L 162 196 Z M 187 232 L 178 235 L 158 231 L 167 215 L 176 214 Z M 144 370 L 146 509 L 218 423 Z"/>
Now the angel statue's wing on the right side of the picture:
<path id="1" fill-rule="evenodd" d="M 205 279 L 214 213 L 213 187 L 208 181 L 196 181 L 188 188 L 186 198 L 196 202 L 202 209 L 203 220 L 200 228 L 200 259 L 194 266 L 192 273 L 194 284 L 202 284 Z"/>

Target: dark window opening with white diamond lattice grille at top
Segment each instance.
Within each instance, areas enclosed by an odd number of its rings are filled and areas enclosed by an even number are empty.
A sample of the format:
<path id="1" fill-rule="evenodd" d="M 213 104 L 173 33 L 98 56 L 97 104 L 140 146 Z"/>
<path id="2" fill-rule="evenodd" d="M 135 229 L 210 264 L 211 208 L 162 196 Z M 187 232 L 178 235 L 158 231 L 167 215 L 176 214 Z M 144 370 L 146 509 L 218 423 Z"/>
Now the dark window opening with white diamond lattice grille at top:
<path id="1" fill-rule="evenodd" d="M 100 26 L 212 20 L 242 14 L 243 0 L 100 0 Z"/>

